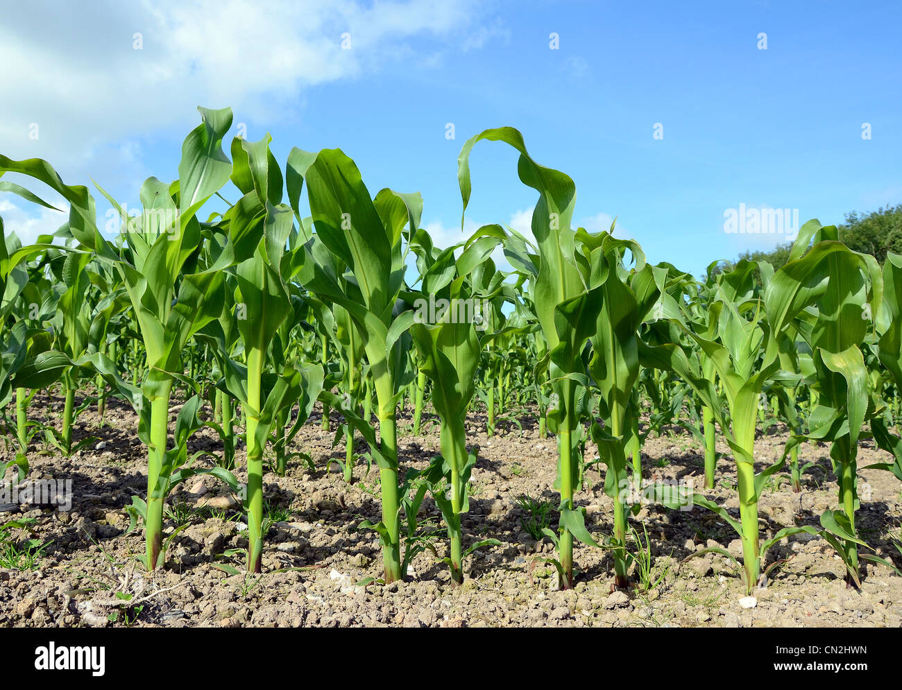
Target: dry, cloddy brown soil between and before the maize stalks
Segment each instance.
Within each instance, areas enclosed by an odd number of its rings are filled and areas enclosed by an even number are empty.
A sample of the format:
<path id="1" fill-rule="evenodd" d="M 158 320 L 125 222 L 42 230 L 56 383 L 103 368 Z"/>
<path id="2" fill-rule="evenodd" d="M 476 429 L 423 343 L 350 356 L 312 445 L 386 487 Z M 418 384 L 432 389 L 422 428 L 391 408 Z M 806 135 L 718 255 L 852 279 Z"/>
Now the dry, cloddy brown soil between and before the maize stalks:
<path id="1" fill-rule="evenodd" d="M 37 396 L 32 418 L 48 410 L 59 425 L 59 396 Z M 426 415 L 426 431 L 411 433 L 410 415 L 400 417 L 402 468 L 422 468 L 437 454 L 437 420 Z M 652 587 L 631 571 L 625 591 L 613 587 L 610 552 L 575 545 L 575 587 L 559 591 L 548 538 L 529 536 L 529 519 L 518 502 L 529 495 L 557 507 L 557 447 L 554 437 L 540 438 L 528 415 L 498 425 L 487 437 L 485 417 L 467 420 L 468 444 L 478 451 L 471 486 L 470 511 L 464 520 L 465 547 L 494 538 L 500 546 L 482 547 L 465 562 L 465 583 L 451 583 L 446 534 L 440 514 L 427 498 L 419 513 L 421 530 L 431 525 L 437 537 L 412 559 L 404 582 L 379 584 L 382 551 L 376 534 L 357 529 L 363 520 L 378 521 L 378 472 L 367 473 L 365 461 L 354 468 L 347 484 L 330 458 L 344 459 L 344 439 L 333 447 L 340 419 L 331 429 L 314 412 L 295 440 L 293 450 L 309 456 L 293 458 L 284 477 L 271 471 L 263 477 L 273 520 L 263 551 L 262 575 L 244 573 L 246 525 L 223 483 L 207 477 L 188 481 L 170 494 L 171 514 L 164 533 L 172 534 L 166 565 L 152 574 L 136 556 L 143 554 L 140 527 L 128 533 L 125 506 L 146 492 L 145 449 L 137 436 L 131 409 L 111 400 L 100 425 L 93 406 L 83 411 L 73 441 L 97 437 L 70 458 L 42 443 L 30 452 L 29 479 L 71 479 L 71 510 L 28 505 L 0 506 L 0 525 L 22 518 L 34 521 L 13 530 L 23 547 L 37 539 L 44 548 L 33 569 L 0 568 L 0 627 L 245 627 L 245 626 L 567 626 L 567 627 L 894 627 L 902 624 L 902 577 L 886 566 L 862 564 L 861 590 L 847 588 L 845 568 L 822 538 L 807 534 L 783 539 L 771 549 L 769 561 L 788 559 L 770 574 L 766 587 L 746 596 L 736 567 L 726 557 L 707 553 L 682 562 L 707 547 L 722 547 L 739 556 L 741 545 L 729 525 L 711 511 L 668 510 L 651 503 L 630 517 L 652 557 Z M 174 417 L 172 418 L 174 422 Z M 522 428 L 517 426 L 519 423 Z M 785 430 L 770 428 L 756 444 L 758 470 L 782 453 Z M 37 441 L 37 439 L 35 439 Z M 198 432 L 189 453 L 221 452 L 212 429 Z M 362 444 L 358 453 L 364 453 Z M 718 465 L 718 484 L 704 493 L 738 515 L 735 465 L 729 448 Z M 10 459 L 11 449 L 0 455 Z M 239 447 L 239 465 L 244 448 Z M 686 431 L 675 428 L 658 437 L 650 434 L 643 448 L 643 472 L 658 480 L 692 479 L 703 491 L 702 447 Z M 886 462 L 888 455 L 862 441 L 859 467 Z M 594 459 L 594 446 L 585 459 Z M 815 465 L 803 476 L 799 493 L 785 477 L 769 484 L 759 504 L 762 537 L 784 527 L 818 525 L 824 511 L 836 507 L 837 487 L 829 449 L 805 445 L 800 464 Z M 198 464 L 210 464 L 200 457 Z M 328 466 L 327 466 L 328 465 Z M 601 467 L 601 469 L 599 469 Z M 6 479 L 13 478 L 9 470 Z M 243 470 L 236 470 L 244 480 Z M 900 485 L 891 474 L 859 470 L 861 538 L 880 557 L 902 555 L 893 545 L 899 538 Z M 603 466 L 590 466 L 576 500 L 586 510 L 586 526 L 601 541 L 612 530 L 612 500 L 603 491 Z M 557 511 L 549 521 L 557 526 Z M 636 550 L 635 545 L 631 547 Z M 863 550 L 863 549 L 862 549 Z M 743 603 L 749 608 L 744 608 Z"/>

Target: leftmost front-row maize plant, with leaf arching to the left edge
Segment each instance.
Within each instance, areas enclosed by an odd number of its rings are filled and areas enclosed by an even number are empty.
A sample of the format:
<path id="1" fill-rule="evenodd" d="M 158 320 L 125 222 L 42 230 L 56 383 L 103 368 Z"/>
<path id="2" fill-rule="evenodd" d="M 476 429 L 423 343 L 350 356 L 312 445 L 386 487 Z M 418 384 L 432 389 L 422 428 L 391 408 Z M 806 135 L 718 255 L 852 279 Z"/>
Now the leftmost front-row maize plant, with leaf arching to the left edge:
<path id="1" fill-rule="evenodd" d="M 235 477 L 222 470 L 179 469 L 187 460 L 189 436 L 202 426 L 198 418 L 199 396 L 186 401 L 176 420 L 174 447 L 169 439 L 170 395 L 173 383 L 183 376 L 182 350 L 198 329 L 219 316 L 223 308 L 223 270 L 253 254 L 262 226 L 229 225 L 230 242 L 205 265 L 199 250 L 205 236 L 215 229 L 202 227 L 196 214 L 228 181 L 232 165 L 222 151 L 222 138 L 232 124 L 232 111 L 198 108 L 202 123 L 182 145 L 179 179 L 165 184 L 147 179 L 141 189 L 143 213 L 128 216 L 101 189 L 123 220 L 124 246 L 116 247 L 97 230 L 94 199 L 84 187 L 69 187 L 45 161 L 9 161 L 0 158 L 0 171 L 11 170 L 47 184 L 69 201 L 69 231 L 79 246 L 72 253 L 94 253 L 97 261 L 111 265 L 124 282 L 143 339 L 148 370 L 141 391 L 125 384 L 115 364 L 102 354 L 73 362 L 61 353 L 37 366 L 58 369 L 73 363 L 90 363 L 104 374 L 139 416 L 139 437 L 148 449 L 147 501 L 133 500 L 135 513 L 144 520 L 145 566 L 161 565 L 163 504 L 171 488 L 195 474 L 215 474 L 238 490 Z M 99 189 L 99 187 L 98 187 Z M 256 233 L 256 235 L 254 235 Z M 36 249 L 46 246 L 35 245 Z M 24 250 L 23 250 L 24 251 Z M 41 355 L 39 355 L 41 357 Z"/>

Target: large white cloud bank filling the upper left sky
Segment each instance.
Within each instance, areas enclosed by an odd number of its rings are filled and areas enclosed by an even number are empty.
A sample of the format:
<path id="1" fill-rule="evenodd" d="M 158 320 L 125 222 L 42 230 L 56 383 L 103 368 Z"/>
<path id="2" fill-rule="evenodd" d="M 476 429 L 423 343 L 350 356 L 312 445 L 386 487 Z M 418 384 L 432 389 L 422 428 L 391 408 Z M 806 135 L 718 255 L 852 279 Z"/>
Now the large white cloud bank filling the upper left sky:
<path id="1" fill-rule="evenodd" d="M 472 0 L 10 5 L 0 24 L 0 142 L 10 157 L 80 172 L 87 159 L 122 162 L 108 143 L 193 126 L 198 104 L 233 106 L 237 121 L 294 118 L 307 87 L 360 77 L 386 60 L 435 60 L 407 41 L 450 38 L 476 10 Z M 133 49 L 137 32 L 142 50 Z"/>

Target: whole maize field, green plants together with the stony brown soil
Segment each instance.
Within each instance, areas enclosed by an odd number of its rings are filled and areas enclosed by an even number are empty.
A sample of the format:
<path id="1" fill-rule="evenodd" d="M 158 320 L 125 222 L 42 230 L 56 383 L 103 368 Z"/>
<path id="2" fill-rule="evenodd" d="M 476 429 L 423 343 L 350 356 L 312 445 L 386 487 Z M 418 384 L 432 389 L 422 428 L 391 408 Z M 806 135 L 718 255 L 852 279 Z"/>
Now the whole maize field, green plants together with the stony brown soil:
<path id="1" fill-rule="evenodd" d="M 902 624 L 902 256 L 652 265 L 511 128 L 532 236 L 440 247 L 200 114 L 138 213 L 0 155 L 0 624 Z"/>

